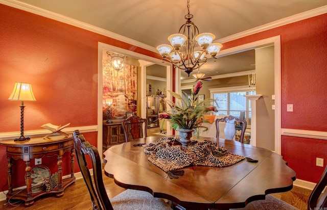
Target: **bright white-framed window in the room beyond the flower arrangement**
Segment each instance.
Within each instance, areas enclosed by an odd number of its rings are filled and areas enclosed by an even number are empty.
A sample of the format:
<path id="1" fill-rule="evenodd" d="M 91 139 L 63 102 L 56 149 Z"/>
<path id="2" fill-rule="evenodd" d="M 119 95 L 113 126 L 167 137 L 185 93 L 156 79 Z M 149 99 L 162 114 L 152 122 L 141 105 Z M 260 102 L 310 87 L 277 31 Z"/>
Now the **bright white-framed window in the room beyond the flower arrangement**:
<path id="1" fill-rule="evenodd" d="M 253 95 L 255 91 L 249 91 L 248 87 L 230 87 L 210 89 L 212 98 L 217 101 L 218 112 L 216 115 L 232 115 L 244 118 L 251 123 L 250 100 L 245 95 Z"/>

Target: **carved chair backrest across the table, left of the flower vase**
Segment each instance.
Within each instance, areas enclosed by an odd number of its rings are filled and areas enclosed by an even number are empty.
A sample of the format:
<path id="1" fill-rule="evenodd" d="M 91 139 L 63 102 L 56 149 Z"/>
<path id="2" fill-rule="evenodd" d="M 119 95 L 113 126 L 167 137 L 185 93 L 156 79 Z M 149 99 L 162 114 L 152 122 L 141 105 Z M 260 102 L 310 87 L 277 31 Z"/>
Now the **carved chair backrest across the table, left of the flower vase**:
<path id="1" fill-rule="evenodd" d="M 144 128 L 143 128 L 144 125 Z M 147 137 L 148 120 L 132 115 L 122 122 L 125 141 Z"/>

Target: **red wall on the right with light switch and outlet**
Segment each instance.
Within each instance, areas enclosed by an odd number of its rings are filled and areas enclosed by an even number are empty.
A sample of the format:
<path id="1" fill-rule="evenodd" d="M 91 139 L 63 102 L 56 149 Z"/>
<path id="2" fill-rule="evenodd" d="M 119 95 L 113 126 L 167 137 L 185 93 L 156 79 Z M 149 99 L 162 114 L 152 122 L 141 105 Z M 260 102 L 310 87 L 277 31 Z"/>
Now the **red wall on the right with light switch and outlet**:
<path id="1" fill-rule="evenodd" d="M 224 48 L 281 35 L 282 128 L 327 132 L 327 14 L 224 43 Z M 287 112 L 288 103 L 294 112 Z M 327 141 L 282 136 L 282 155 L 297 178 L 317 182 L 327 163 Z"/>

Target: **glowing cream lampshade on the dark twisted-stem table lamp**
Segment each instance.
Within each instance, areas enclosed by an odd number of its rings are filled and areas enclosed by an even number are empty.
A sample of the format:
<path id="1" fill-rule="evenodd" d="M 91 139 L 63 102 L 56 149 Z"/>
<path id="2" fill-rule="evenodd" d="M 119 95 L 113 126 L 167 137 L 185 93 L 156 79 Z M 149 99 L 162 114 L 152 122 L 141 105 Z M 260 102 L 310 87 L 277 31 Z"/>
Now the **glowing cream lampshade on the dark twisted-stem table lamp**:
<path id="1" fill-rule="evenodd" d="M 16 82 L 8 100 L 36 101 L 30 83 Z"/>

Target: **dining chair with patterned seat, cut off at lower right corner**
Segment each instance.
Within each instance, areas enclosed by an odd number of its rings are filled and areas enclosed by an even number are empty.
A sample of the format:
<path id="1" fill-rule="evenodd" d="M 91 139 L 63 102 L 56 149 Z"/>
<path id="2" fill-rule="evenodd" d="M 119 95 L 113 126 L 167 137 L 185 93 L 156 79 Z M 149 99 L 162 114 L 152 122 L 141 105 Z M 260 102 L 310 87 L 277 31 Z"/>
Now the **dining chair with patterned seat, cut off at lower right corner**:
<path id="1" fill-rule="evenodd" d="M 327 166 L 325 167 L 325 170 L 323 171 L 319 181 L 317 182 L 315 188 L 312 190 L 309 196 L 309 201 L 307 205 L 308 210 L 327 209 L 327 191 L 326 190 L 324 191 L 324 188 L 326 186 L 327 186 Z M 244 208 L 235 208 L 234 210 L 252 210 L 252 209 L 292 210 L 298 208 L 272 195 L 266 195 L 265 200 L 252 201 L 248 203 Z"/>

